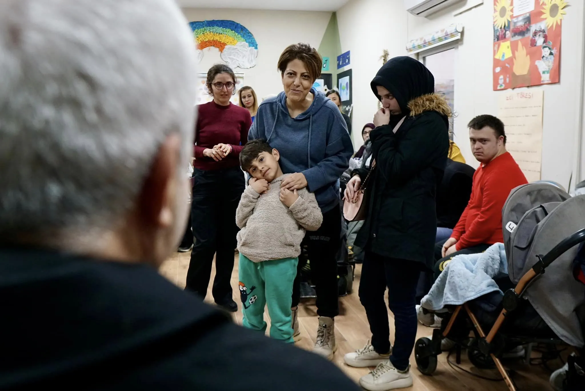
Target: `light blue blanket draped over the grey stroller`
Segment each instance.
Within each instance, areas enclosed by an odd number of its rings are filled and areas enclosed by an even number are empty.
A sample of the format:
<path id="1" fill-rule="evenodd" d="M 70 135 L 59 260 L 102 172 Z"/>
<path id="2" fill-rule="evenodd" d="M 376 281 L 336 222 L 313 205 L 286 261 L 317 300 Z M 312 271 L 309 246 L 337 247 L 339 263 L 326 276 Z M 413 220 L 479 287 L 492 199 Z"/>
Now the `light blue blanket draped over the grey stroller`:
<path id="1" fill-rule="evenodd" d="M 503 243 L 495 243 L 485 252 L 457 255 L 435 281 L 429 294 L 421 300 L 427 310 L 441 310 L 445 306 L 459 306 L 500 288 L 494 277 L 508 274 L 508 263 Z"/>

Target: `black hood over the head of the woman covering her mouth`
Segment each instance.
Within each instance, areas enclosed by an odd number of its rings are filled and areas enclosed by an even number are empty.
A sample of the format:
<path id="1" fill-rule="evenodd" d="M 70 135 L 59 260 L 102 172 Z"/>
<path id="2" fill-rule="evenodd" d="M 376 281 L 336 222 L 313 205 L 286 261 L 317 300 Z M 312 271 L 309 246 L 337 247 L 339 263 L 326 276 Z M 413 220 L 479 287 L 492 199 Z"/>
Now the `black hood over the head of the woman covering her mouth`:
<path id="1" fill-rule="evenodd" d="M 394 57 L 384 64 L 374 80 L 371 90 L 380 100 L 376 90 L 381 85 L 398 101 L 402 115 L 408 114 L 408 102 L 422 95 L 435 92 L 435 78 L 420 61 L 408 56 Z"/>

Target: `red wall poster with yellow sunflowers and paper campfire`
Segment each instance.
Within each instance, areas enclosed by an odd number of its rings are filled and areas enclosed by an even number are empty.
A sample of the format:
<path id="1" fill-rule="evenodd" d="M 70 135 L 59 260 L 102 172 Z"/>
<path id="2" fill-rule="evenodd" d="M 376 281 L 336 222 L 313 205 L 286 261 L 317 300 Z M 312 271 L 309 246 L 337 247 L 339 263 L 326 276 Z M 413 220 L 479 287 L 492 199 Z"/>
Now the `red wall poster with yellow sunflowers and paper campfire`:
<path id="1" fill-rule="evenodd" d="M 494 91 L 559 83 L 565 0 L 494 0 Z"/>

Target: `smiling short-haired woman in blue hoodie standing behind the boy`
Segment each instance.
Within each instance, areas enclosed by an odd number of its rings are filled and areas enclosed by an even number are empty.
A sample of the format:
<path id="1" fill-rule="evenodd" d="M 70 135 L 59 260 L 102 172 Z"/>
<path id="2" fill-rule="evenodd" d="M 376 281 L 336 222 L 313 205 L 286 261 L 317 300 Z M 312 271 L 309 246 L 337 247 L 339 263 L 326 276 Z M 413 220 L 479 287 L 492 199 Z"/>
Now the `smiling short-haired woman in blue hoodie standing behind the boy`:
<path id="1" fill-rule="evenodd" d="M 312 88 L 321 76 L 321 55 L 305 43 L 292 44 L 280 55 L 278 70 L 284 91 L 268 98 L 258 108 L 248 139 L 263 138 L 280 152 L 283 181 L 288 190 L 307 187 L 323 213 L 318 231 L 307 233 L 308 258 L 317 294 L 319 328 L 314 352 L 332 358 L 337 346 L 333 318 L 339 314 L 337 262 L 340 246 L 341 211 L 339 177 L 349 167 L 352 140 L 339 108 Z M 298 341 L 297 306 L 300 280 L 292 294 L 294 338 Z"/>

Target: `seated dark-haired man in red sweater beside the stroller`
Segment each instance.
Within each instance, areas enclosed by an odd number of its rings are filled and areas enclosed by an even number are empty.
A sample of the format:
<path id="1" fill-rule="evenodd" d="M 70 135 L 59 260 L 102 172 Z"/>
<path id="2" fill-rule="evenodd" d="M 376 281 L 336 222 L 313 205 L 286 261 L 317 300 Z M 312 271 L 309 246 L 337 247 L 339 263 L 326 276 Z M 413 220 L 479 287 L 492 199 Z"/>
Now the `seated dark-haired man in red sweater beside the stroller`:
<path id="1" fill-rule="evenodd" d="M 504 203 L 513 188 L 528 183 L 506 150 L 504 124 L 500 119 L 493 115 L 479 115 L 467 126 L 473 156 L 481 164 L 473 175 L 469 204 L 453 234 L 446 242 L 438 243 L 441 251 L 437 251 L 437 256 L 441 260 L 435 266 L 435 272 L 439 273 L 455 255 L 483 252 L 490 245 L 504 241 Z"/>

